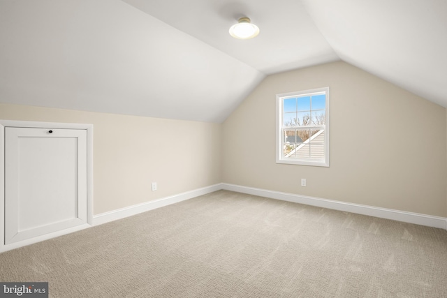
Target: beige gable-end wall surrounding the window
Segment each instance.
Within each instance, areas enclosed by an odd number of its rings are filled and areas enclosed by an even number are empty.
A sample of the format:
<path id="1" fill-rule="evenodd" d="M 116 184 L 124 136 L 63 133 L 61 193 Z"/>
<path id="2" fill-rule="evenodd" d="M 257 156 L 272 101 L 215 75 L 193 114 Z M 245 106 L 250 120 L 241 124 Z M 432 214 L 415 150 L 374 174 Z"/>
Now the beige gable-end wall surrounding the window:
<path id="1" fill-rule="evenodd" d="M 275 95 L 319 87 L 330 87 L 330 167 L 275 163 Z M 222 140 L 223 182 L 447 215 L 446 109 L 344 62 L 270 75 Z"/>

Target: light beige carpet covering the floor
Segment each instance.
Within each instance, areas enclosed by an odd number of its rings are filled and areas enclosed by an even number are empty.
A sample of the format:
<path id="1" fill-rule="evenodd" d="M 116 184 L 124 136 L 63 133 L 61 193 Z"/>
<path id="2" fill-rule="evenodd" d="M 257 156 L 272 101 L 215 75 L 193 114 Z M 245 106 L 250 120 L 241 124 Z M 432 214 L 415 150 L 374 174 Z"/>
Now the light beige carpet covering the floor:
<path id="1" fill-rule="evenodd" d="M 447 297 L 447 231 L 217 191 L 0 266 L 50 297 Z"/>

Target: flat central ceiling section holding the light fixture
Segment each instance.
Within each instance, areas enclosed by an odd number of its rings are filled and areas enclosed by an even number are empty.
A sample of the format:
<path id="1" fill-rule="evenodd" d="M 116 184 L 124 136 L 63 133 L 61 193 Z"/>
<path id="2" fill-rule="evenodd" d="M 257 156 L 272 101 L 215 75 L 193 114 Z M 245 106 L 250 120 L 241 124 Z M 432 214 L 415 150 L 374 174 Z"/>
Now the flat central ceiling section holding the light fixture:
<path id="1" fill-rule="evenodd" d="M 296 0 L 123 0 L 265 74 L 339 60 Z M 237 40 L 228 33 L 240 17 L 261 33 Z"/>

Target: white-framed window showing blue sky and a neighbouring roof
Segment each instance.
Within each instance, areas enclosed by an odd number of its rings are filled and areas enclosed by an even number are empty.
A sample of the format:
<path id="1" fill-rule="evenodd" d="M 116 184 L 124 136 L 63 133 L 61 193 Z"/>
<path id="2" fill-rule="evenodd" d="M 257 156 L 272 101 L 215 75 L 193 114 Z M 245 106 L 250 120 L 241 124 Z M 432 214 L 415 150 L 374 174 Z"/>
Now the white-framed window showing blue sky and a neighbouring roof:
<path id="1" fill-rule="evenodd" d="M 329 87 L 277 94 L 277 163 L 329 166 Z"/>

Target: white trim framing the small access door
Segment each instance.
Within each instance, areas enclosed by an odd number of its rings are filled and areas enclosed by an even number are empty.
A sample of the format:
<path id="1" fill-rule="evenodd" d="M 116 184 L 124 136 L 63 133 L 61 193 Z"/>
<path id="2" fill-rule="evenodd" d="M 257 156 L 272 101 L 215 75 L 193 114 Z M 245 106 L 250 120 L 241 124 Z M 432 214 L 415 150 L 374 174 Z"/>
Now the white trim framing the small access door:
<path id="1" fill-rule="evenodd" d="M 5 128 L 64 128 L 79 129 L 87 131 L 87 224 L 78 225 L 74 228 L 51 232 L 42 236 L 34 237 L 24 241 L 17 241 L 13 244 L 5 244 Z M 93 124 L 71 124 L 71 123 L 55 123 L 55 122 L 36 122 L 36 121 L 15 121 L 0 119 L 0 252 L 9 251 L 10 249 L 25 246 L 89 228 L 93 225 Z"/>

